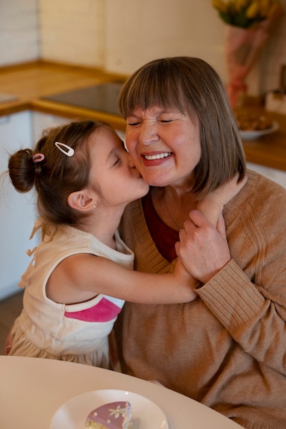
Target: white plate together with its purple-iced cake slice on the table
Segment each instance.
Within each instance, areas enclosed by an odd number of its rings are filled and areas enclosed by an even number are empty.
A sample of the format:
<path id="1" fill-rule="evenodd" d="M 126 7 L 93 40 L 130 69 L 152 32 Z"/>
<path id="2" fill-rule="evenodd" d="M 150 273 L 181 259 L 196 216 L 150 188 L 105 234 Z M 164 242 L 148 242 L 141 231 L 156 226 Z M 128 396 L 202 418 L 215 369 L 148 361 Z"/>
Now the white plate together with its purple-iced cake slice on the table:
<path id="1" fill-rule="evenodd" d="M 168 429 L 167 417 L 154 402 L 123 390 L 82 393 L 60 406 L 50 429 Z"/>

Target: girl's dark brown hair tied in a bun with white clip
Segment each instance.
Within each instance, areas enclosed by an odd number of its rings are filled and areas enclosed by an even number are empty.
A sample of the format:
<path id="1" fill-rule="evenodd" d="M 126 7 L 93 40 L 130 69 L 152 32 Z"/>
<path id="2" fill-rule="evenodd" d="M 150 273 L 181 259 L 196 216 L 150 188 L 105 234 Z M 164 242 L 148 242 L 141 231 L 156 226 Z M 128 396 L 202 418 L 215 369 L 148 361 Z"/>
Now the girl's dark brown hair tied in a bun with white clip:
<path id="1" fill-rule="evenodd" d="M 51 128 L 38 140 L 36 149 L 21 149 L 10 156 L 8 167 L 16 191 L 25 193 L 35 186 L 38 192 L 38 211 L 45 221 L 53 224 L 80 223 L 82 214 L 71 208 L 67 198 L 88 185 L 91 157 L 88 138 L 99 127 L 109 127 L 100 121 L 76 121 Z M 55 143 L 74 149 L 73 156 L 63 154 Z M 33 159 L 43 154 L 40 162 Z"/>

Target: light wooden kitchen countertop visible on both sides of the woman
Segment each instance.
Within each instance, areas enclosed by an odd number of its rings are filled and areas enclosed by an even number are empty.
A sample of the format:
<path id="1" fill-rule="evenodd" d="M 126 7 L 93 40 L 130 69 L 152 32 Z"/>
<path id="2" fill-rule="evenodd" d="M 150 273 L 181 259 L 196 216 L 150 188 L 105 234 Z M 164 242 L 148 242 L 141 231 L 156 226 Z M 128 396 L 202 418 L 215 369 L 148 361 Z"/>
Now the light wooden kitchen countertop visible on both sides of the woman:
<path id="1" fill-rule="evenodd" d="M 3 67 L 0 69 L 0 95 L 8 94 L 16 99 L 1 101 L 0 97 L 0 116 L 21 110 L 36 110 L 71 119 L 98 119 L 124 131 L 125 120 L 116 114 L 58 103 L 45 97 L 105 82 L 123 82 L 125 78 L 99 69 L 41 61 Z M 255 103 L 248 108 L 263 112 Z M 272 112 L 267 112 L 267 116 L 278 122 L 279 130 L 257 140 L 243 140 L 246 159 L 248 162 L 286 171 L 286 117 Z"/>

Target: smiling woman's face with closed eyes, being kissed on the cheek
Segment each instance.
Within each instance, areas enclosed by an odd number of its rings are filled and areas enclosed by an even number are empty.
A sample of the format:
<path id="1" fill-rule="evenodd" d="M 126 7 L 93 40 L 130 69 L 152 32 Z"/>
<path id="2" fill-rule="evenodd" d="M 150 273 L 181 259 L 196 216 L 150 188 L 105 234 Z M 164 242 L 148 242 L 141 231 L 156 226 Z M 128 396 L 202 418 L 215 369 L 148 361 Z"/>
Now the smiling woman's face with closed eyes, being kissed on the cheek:
<path id="1" fill-rule="evenodd" d="M 126 121 L 126 146 L 145 182 L 191 187 L 201 157 L 199 126 L 189 116 L 160 106 L 137 108 Z"/>

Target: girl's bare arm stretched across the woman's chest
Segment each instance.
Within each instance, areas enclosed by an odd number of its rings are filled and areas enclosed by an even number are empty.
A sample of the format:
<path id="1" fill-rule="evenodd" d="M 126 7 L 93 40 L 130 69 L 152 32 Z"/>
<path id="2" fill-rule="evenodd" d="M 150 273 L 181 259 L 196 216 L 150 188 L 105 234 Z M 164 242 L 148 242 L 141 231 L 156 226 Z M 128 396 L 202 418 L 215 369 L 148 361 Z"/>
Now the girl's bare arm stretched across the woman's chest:
<path id="1" fill-rule="evenodd" d="M 51 273 L 47 296 L 55 302 L 75 304 L 98 293 L 141 304 L 178 304 L 197 297 L 195 280 L 178 260 L 174 273 L 142 273 L 91 254 L 64 259 Z"/>

